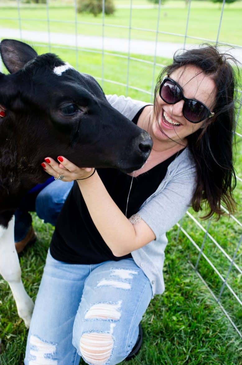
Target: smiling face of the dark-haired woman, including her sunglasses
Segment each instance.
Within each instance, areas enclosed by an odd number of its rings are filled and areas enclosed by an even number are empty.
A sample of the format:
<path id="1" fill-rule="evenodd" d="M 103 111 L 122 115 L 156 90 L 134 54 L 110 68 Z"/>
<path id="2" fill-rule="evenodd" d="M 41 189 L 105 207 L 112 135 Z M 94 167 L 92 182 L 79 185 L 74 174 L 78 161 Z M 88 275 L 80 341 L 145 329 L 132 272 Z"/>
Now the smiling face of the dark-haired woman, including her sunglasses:
<path id="1" fill-rule="evenodd" d="M 185 98 L 183 92 L 191 99 Z M 167 148 L 177 143 L 185 147 L 187 136 L 204 127 L 207 118 L 214 115 L 209 109 L 215 95 L 215 82 L 195 66 L 183 66 L 173 71 L 170 78 L 165 76 L 156 98 L 159 114 L 154 114 L 152 122 L 153 142 L 163 141 L 162 146 Z"/>

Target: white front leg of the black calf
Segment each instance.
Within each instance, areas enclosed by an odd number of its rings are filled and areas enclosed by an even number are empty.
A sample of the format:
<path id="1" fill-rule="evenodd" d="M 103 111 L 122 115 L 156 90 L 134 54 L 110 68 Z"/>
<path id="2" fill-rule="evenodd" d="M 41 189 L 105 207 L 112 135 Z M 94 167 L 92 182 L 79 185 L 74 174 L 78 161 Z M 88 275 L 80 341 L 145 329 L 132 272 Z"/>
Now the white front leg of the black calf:
<path id="1" fill-rule="evenodd" d="M 0 226 L 0 274 L 9 284 L 16 301 L 17 312 L 29 327 L 33 301 L 26 293 L 22 280 L 19 258 L 14 243 L 14 216 L 8 228 Z"/>

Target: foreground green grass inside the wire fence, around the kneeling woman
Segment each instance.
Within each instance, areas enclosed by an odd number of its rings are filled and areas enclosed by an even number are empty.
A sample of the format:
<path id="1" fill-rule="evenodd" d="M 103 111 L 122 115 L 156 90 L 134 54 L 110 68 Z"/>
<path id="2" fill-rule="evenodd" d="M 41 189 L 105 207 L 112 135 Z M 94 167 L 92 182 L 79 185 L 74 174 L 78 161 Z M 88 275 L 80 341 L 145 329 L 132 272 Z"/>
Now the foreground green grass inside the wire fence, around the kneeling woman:
<path id="1" fill-rule="evenodd" d="M 38 241 L 20 259 L 25 288 L 33 298 L 53 231 L 49 224 L 42 224 L 37 218 L 34 224 Z M 143 317 L 142 350 L 130 365 L 242 364 L 241 339 L 188 264 L 191 247 L 186 247 L 183 238 L 176 242 L 175 233 L 174 230 L 168 234 L 170 244 L 164 266 L 166 291 L 151 301 Z M 4 349 L 0 363 L 23 365 L 27 330 L 16 314 L 8 285 L 4 281 L 0 284 L 3 298 L 0 337 Z"/>

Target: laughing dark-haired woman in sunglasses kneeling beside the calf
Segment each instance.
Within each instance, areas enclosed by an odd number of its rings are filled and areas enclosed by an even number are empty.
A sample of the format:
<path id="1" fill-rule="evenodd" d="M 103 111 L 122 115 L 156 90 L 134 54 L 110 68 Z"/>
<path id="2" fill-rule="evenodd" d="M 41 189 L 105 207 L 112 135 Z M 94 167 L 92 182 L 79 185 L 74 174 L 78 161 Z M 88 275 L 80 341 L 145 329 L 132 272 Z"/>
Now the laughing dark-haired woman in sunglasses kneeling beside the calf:
<path id="1" fill-rule="evenodd" d="M 140 320 L 164 291 L 166 231 L 206 202 L 206 218 L 232 212 L 234 75 L 215 47 L 185 51 L 160 74 L 154 106 L 109 96 L 148 131 L 146 164 L 126 175 L 42 166 L 75 183 L 59 215 L 29 329 L 25 365 L 118 364 L 140 347 Z"/>

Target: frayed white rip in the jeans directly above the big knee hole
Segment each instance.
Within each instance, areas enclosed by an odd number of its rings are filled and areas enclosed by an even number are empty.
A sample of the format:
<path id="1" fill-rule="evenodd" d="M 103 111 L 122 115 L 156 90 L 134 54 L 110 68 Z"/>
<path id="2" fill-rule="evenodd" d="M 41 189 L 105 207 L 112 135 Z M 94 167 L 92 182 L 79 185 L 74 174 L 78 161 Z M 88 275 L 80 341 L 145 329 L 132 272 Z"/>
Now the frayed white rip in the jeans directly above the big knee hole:
<path id="1" fill-rule="evenodd" d="M 117 304 L 97 303 L 91 306 L 85 315 L 85 319 L 102 318 L 102 319 L 114 319 L 119 320 L 121 312 L 119 308 L 122 301 Z"/>

